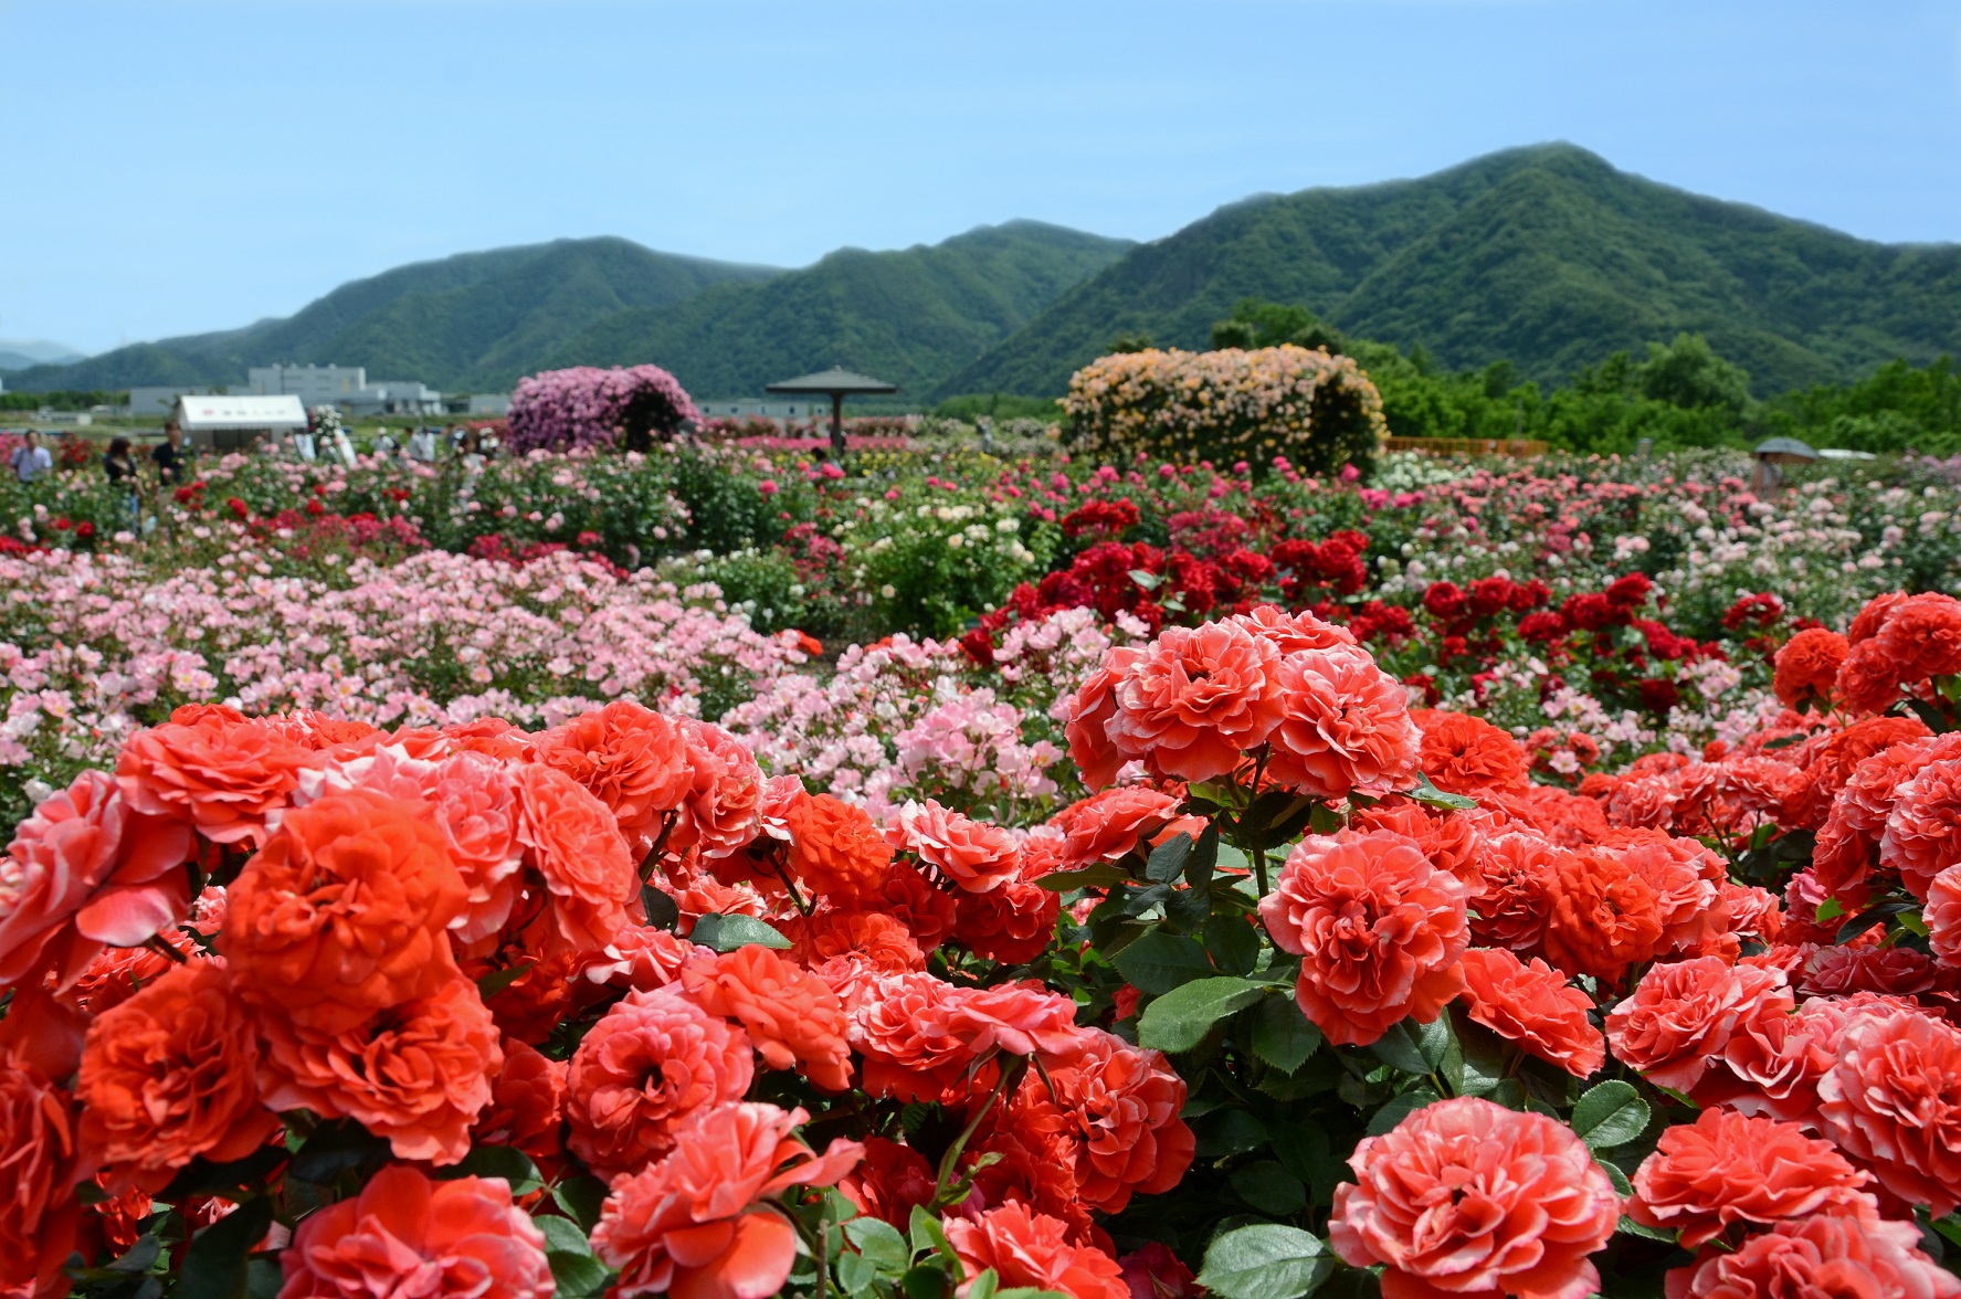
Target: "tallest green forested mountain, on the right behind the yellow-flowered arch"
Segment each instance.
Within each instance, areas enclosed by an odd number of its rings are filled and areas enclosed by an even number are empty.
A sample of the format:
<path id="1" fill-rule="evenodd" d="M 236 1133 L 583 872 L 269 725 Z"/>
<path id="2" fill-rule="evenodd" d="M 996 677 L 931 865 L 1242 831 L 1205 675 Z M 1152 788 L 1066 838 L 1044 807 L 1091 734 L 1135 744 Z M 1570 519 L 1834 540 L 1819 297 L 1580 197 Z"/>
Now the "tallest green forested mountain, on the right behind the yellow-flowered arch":
<path id="1" fill-rule="evenodd" d="M 1961 353 L 1957 245 L 1869 243 L 1539 145 L 1222 208 L 1075 286 L 937 396 L 1059 394 L 1122 333 L 1206 347 L 1241 298 L 1547 382 L 1681 331 L 1759 392 Z"/>

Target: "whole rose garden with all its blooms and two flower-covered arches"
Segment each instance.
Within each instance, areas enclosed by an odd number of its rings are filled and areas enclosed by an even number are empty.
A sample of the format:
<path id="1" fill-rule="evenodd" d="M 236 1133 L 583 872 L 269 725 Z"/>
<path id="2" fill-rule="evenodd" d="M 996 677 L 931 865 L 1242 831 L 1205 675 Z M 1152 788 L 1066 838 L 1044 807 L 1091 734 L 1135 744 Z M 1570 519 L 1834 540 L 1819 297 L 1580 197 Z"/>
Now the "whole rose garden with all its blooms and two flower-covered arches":
<path id="1" fill-rule="evenodd" d="M 1059 435 L 0 486 L 0 1293 L 1961 1295 L 1961 484 Z"/>

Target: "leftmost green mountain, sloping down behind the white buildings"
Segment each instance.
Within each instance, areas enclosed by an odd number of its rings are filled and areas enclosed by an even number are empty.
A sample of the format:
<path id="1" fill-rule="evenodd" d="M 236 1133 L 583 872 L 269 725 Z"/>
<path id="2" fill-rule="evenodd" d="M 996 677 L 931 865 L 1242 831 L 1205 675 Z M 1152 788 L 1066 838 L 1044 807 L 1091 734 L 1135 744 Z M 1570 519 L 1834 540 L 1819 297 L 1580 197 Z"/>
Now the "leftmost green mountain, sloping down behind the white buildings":
<path id="1" fill-rule="evenodd" d="M 682 302 L 710 284 L 782 274 L 655 253 L 628 239 L 559 239 L 463 253 L 355 280 L 284 319 L 120 347 L 76 364 L 8 374 L 18 390 L 239 384 L 247 366 L 367 366 L 453 392 L 496 392 L 561 339 L 633 308 Z"/>

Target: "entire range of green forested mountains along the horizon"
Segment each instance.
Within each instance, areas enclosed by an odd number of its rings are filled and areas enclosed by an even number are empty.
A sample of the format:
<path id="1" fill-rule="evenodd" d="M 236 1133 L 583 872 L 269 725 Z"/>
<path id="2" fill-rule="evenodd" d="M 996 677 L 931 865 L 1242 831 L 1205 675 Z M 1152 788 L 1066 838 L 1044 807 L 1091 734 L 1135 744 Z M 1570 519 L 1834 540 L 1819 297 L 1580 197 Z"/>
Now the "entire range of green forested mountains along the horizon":
<path id="1" fill-rule="evenodd" d="M 830 364 L 888 378 L 912 402 L 1049 396 L 1122 333 L 1204 347 L 1241 298 L 1298 302 L 1453 368 L 1512 361 L 1545 382 L 1684 329 L 1759 392 L 1961 353 L 1961 245 L 1853 239 L 1537 145 L 1418 180 L 1249 198 L 1143 245 L 1008 221 L 931 247 L 841 249 L 802 270 L 626 239 L 469 253 L 345 284 L 286 319 L 6 382 L 229 384 L 249 364 L 294 361 L 498 392 L 539 368 L 651 361 L 708 398 Z"/>

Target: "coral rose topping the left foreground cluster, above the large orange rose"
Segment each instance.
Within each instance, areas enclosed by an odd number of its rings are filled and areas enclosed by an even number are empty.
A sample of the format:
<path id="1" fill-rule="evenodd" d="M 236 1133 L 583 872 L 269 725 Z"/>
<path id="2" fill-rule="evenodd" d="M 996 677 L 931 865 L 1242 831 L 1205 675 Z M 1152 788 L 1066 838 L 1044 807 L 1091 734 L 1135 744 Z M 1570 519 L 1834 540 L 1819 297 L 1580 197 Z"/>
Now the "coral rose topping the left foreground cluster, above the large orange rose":
<path id="1" fill-rule="evenodd" d="M 310 748 L 263 717 L 222 703 L 186 703 L 161 727 L 137 731 L 116 756 L 116 784 L 145 817 L 188 821 L 212 842 L 259 841 L 286 807 Z"/>

